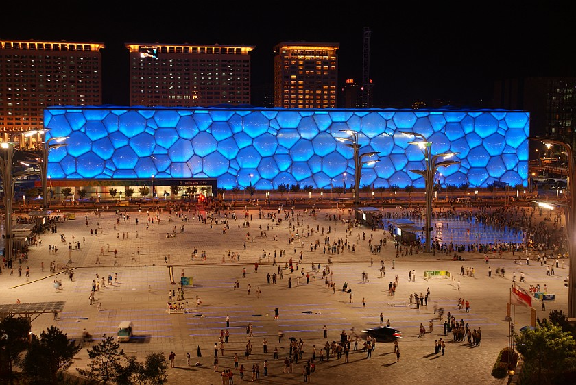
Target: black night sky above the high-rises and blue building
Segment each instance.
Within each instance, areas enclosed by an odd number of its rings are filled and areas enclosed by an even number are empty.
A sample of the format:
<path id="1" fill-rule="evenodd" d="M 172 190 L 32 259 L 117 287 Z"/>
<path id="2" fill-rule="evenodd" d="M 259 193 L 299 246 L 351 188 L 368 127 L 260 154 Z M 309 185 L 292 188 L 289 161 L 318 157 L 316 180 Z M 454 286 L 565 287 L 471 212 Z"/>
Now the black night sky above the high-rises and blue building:
<path id="1" fill-rule="evenodd" d="M 104 42 L 104 103 L 117 105 L 129 100 L 125 42 L 254 45 L 254 94 L 272 83 L 272 47 L 281 41 L 338 42 L 339 85 L 361 81 L 363 27 L 370 27 L 378 107 L 408 107 L 416 99 L 483 100 L 491 107 L 495 79 L 576 76 L 576 9 L 567 2 L 251 3 L 10 1 L 0 39 Z"/>

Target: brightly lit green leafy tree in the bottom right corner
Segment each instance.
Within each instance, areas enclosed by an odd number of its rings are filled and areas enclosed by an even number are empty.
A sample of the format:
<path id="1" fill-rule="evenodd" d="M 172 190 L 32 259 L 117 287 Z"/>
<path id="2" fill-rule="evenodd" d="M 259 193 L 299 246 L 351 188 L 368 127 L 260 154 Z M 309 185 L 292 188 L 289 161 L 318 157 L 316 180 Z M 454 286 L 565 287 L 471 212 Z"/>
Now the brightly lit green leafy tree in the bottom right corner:
<path id="1" fill-rule="evenodd" d="M 533 365 L 539 384 L 551 382 L 566 366 L 566 360 L 574 356 L 576 346 L 570 332 L 562 332 L 560 326 L 544 319 L 535 330 L 523 330 L 516 334 L 516 349 L 526 362 Z"/>

